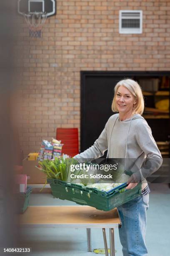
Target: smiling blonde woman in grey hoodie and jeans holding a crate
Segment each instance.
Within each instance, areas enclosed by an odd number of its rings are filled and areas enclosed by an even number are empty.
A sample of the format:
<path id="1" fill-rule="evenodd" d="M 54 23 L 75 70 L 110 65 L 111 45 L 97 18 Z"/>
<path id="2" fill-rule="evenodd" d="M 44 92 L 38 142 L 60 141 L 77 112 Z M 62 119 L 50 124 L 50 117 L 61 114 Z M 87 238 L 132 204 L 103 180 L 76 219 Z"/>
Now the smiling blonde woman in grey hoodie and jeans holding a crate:
<path id="1" fill-rule="evenodd" d="M 141 196 L 117 207 L 122 228 L 119 229 L 123 256 L 147 256 L 145 244 L 146 210 L 148 210 L 150 189 L 145 178 L 162 164 L 160 151 L 151 129 L 141 116 L 144 100 L 141 88 L 132 79 L 124 79 L 115 86 L 112 101 L 112 115 L 94 145 L 75 158 L 97 159 L 107 151 L 109 158 L 135 159 L 139 171 L 133 173 L 126 189 L 133 189 L 142 182 Z M 149 168 L 145 159 L 151 159 Z"/>

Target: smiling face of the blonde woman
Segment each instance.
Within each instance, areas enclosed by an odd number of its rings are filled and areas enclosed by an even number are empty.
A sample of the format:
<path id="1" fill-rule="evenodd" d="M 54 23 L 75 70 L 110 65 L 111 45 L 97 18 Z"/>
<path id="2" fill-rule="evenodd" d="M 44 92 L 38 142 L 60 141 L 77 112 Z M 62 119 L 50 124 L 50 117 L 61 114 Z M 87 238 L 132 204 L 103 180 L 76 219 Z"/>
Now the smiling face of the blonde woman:
<path id="1" fill-rule="evenodd" d="M 115 102 L 119 113 L 126 114 L 133 112 L 133 106 L 136 104 L 133 94 L 124 86 L 117 89 Z"/>

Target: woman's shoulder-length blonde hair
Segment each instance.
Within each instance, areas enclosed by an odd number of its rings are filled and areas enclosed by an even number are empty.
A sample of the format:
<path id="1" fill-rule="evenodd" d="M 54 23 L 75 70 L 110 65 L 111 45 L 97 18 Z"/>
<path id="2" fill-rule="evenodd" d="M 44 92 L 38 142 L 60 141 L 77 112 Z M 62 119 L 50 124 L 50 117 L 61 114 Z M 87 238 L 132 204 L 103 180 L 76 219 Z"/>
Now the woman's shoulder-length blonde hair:
<path id="1" fill-rule="evenodd" d="M 144 110 L 144 99 L 143 99 L 143 94 L 142 94 L 142 90 L 140 88 L 140 85 L 132 80 L 132 79 L 124 79 L 119 81 L 116 86 L 115 86 L 115 95 L 112 101 L 112 111 L 113 112 L 118 112 L 117 110 L 117 105 L 115 102 L 115 97 L 116 97 L 116 93 L 117 93 L 117 89 L 120 86 L 124 86 L 125 88 L 127 88 L 132 95 L 135 97 L 135 100 L 137 100 L 137 103 L 135 104 L 135 108 L 133 109 L 133 113 L 134 114 L 143 114 L 143 110 Z"/>

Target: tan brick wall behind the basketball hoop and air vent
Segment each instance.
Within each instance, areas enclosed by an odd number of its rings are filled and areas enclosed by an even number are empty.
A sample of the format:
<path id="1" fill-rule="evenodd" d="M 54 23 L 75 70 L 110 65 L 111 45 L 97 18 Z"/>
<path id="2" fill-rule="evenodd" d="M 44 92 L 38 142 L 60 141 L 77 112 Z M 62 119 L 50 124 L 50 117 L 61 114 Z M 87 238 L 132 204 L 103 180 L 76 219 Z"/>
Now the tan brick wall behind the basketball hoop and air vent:
<path id="1" fill-rule="evenodd" d="M 119 10 L 143 10 L 143 33 L 119 34 Z M 169 0 L 57 0 L 41 38 L 18 22 L 15 108 L 25 155 L 57 127 L 80 129 L 81 70 L 170 70 Z"/>

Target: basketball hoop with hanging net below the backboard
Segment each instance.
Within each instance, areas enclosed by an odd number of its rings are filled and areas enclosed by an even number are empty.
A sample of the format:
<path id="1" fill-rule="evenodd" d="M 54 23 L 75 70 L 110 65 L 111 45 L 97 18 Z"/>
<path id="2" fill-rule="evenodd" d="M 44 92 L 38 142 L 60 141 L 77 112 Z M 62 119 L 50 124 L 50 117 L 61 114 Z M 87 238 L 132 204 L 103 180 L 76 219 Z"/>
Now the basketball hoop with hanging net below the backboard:
<path id="1" fill-rule="evenodd" d="M 30 37 L 41 37 L 41 30 L 47 18 L 47 13 L 28 12 L 23 13 L 23 15 L 30 29 Z"/>

